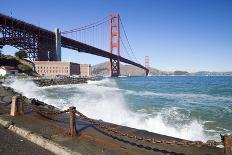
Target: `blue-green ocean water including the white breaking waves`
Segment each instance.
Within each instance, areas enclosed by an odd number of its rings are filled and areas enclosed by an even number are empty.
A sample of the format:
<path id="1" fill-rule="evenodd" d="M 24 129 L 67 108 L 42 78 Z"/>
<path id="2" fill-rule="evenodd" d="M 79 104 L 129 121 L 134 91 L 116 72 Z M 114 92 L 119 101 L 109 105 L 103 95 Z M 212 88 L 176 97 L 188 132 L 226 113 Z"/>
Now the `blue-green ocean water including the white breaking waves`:
<path id="1" fill-rule="evenodd" d="M 103 121 L 173 137 L 220 140 L 232 134 L 232 77 L 127 77 L 39 88 L 10 86 L 60 109 L 76 106 Z"/>

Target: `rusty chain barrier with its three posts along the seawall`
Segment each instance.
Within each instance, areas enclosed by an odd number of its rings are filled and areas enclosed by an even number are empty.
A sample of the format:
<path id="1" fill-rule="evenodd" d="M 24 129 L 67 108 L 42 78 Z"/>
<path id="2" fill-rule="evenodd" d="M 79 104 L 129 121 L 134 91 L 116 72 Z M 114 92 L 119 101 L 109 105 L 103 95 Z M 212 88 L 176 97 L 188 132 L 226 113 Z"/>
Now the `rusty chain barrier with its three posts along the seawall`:
<path id="1" fill-rule="evenodd" d="M 19 114 L 23 115 L 23 104 L 22 104 L 23 102 L 24 102 L 24 99 L 22 99 L 21 96 L 16 95 L 12 97 L 11 113 L 10 113 L 12 116 L 19 115 Z M 104 125 L 104 123 L 99 123 L 99 121 L 93 120 L 85 116 L 81 112 L 77 111 L 76 107 L 73 107 L 73 106 L 69 107 L 69 109 L 67 110 L 59 111 L 59 110 L 39 107 L 36 104 L 30 104 L 30 105 L 32 106 L 33 112 L 44 115 L 45 117 L 47 117 L 48 115 L 60 115 L 60 114 L 69 113 L 69 134 L 71 136 L 77 135 L 76 115 L 78 115 L 81 119 L 89 122 L 98 130 L 112 137 L 122 136 L 128 139 L 133 139 L 133 140 L 141 141 L 141 142 L 148 142 L 151 144 L 168 144 L 168 145 L 195 146 L 195 147 L 202 147 L 202 146 L 216 147 L 218 145 L 222 145 L 224 146 L 224 151 L 226 152 L 226 154 L 232 153 L 232 147 L 231 147 L 232 146 L 232 135 L 221 136 L 222 140 L 220 142 L 217 142 L 214 140 L 208 140 L 207 142 L 202 142 L 202 141 L 190 141 L 190 140 L 181 140 L 181 139 L 180 140 L 163 140 L 163 139 L 156 139 L 156 138 L 148 138 L 148 137 L 132 135 L 126 132 L 119 131 L 116 128 L 108 127 Z"/>

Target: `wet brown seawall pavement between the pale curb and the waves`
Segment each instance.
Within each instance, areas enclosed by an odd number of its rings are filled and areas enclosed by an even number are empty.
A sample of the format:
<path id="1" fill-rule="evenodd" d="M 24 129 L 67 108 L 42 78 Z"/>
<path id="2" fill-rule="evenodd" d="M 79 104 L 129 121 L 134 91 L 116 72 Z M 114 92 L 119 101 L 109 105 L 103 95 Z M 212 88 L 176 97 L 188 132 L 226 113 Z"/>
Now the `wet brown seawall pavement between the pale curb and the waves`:
<path id="1" fill-rule="evenodd" d="M 1 117 L 7 121 L 13 122 L 17 127 L 24 128 L 30 133 L 38 134 L 51 142 L 55 142 L 60 146 L 72 150 L 73 152 L 79 152 L 81 154 L 223 154 L 223 149 L 217 147 L 148 143 L 146 141 L 138 141 L 128 137 L 115 136 L 114 134 L 109 135 L 80 117 L 77 118 L 78 135 L 76 137 L 70 137 L 66 133 L 68 129 L 68 115 L 44 116 L 33 111 L 33 106 L 55 111 L 58 111 L 59 109 L 36 99 L 28 99 L 22 96 L 25 114 L 23 116 L 12 117 L 8 115 L 11 106 L 11 98 L 14 95 L 20 94 L 11 88 L 3 87 L 1 85 L 0 92 Z M 181 141 L 181 139 L 159 135 L 144 130 L 106 123 L 99 120 L 95 121 L 111 127 L 111 129 L 117 129 L 120 132 L 136 135 L 137 137 L 155 138 L 160 140 L 160 142 L 170 140 Z"/>

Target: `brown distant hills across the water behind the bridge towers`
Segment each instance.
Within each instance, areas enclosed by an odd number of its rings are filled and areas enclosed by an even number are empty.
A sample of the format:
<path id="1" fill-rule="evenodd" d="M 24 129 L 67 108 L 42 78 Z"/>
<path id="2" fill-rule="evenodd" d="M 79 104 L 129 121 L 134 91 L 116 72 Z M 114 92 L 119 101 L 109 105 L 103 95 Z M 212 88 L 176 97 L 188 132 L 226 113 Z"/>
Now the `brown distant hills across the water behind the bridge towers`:
<path id="1" fill-rule="evenodd" d="M 143 76 L 145 71 L 141 68 L 132 66 L 132 65 L 123 65 L 120 64 L 121 68 L 121 75 L 125 76 Z M 91 67 L 93 75 L 100 75 L 100 76 L 107 76 L 109 69 L 109 62 L 100 63 Z M 189 73 L 186 71 L 175 71 L 175 72 L 168 72 L 168 71 L 161 71 L 155 68 L 149 68 L 149 75 L 188 75 Z"/>

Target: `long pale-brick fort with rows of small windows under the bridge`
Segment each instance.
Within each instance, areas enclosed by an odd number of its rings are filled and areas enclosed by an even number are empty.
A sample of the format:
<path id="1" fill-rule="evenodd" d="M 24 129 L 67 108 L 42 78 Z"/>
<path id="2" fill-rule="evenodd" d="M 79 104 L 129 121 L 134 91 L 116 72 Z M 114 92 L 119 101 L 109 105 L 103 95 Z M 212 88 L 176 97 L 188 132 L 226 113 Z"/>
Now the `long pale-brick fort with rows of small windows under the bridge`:
<path id="1" fill-rule="evenodd" d="M 42 76 L 90 75 L 90 65 L 61 61 L 34 61 L 35 70 Z M 86 66 L 89 66 L 86 67 Z"/>

